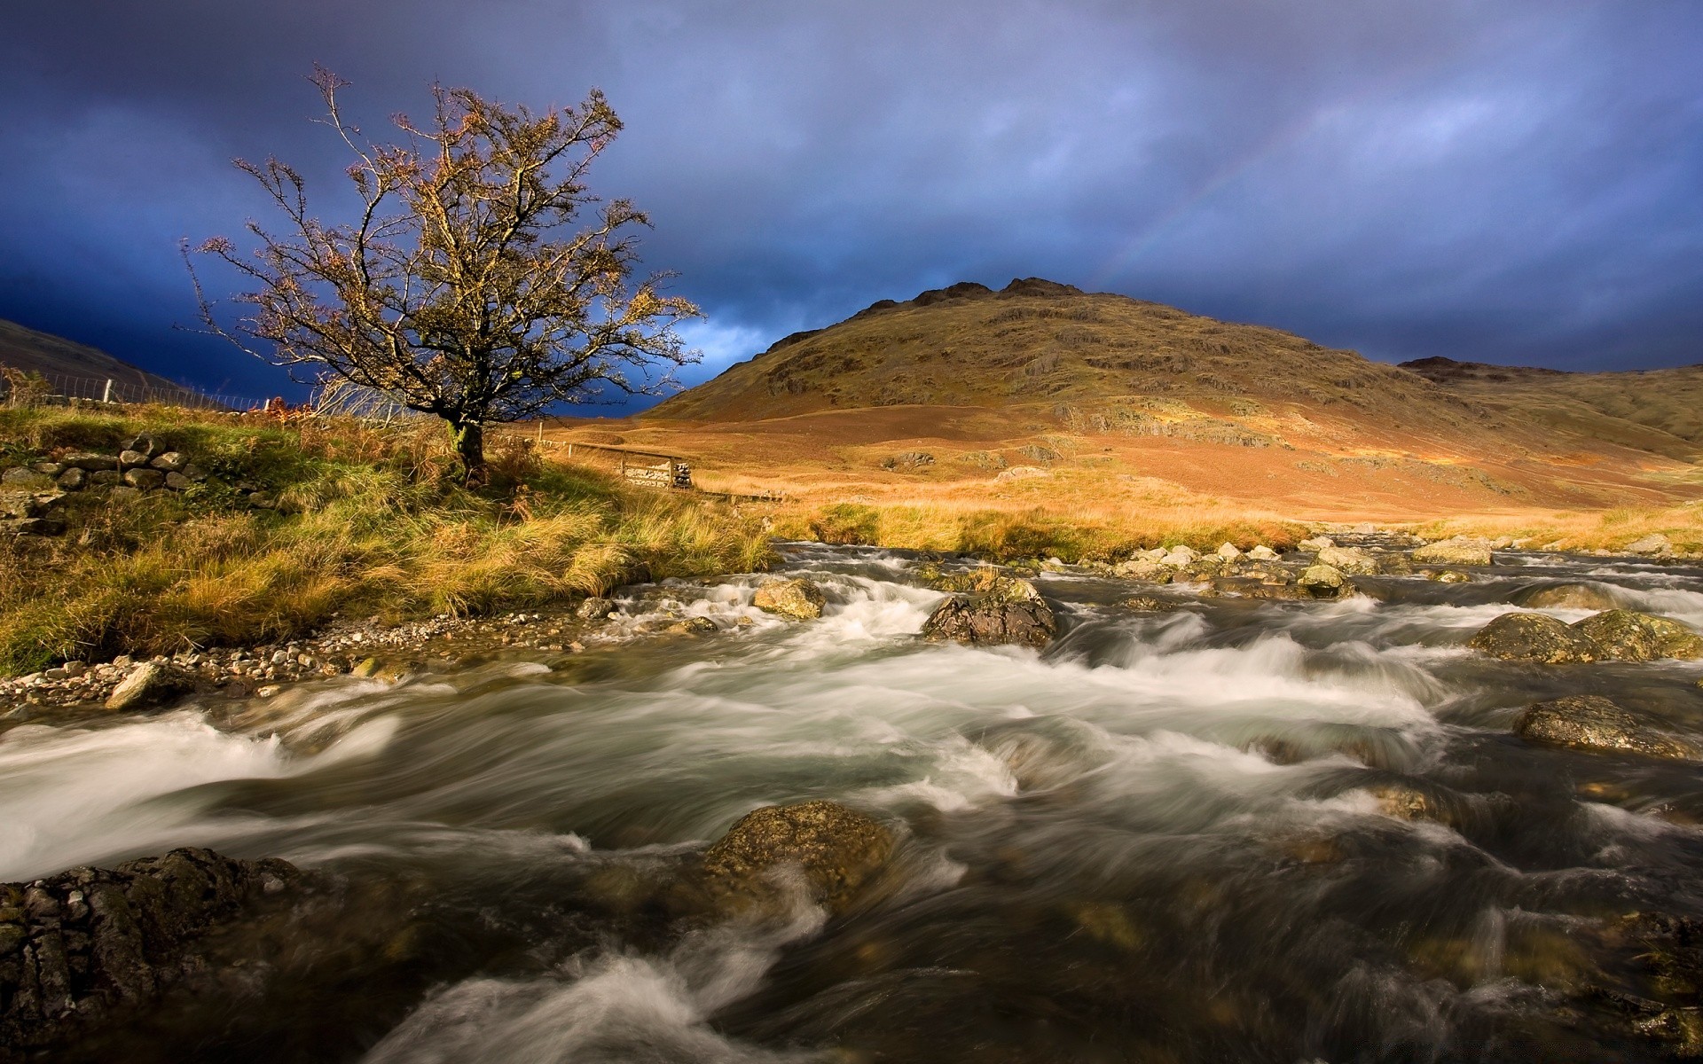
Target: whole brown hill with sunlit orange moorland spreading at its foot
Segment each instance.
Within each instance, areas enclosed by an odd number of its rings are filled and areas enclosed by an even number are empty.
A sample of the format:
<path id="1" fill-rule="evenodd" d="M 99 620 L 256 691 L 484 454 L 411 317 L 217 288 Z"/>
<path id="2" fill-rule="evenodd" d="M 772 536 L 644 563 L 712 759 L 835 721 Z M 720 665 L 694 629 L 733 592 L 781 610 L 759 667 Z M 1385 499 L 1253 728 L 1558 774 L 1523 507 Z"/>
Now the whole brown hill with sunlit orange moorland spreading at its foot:
<path id="1" fill-rule="evenodd" d="M 904 546 L 1000 514 L 1097 528 L 1090 553 L 1299 521 L 1703 543 L 1684 506 L 1703 494 L 1700 392 L 1700 368 L 1390 366 L 1030 277 L 880 301 L 639 417 L 547 434 L 782 494 L 799 535 L 834 531 L 823 507 L 869 507 L 860 535 Z"/>

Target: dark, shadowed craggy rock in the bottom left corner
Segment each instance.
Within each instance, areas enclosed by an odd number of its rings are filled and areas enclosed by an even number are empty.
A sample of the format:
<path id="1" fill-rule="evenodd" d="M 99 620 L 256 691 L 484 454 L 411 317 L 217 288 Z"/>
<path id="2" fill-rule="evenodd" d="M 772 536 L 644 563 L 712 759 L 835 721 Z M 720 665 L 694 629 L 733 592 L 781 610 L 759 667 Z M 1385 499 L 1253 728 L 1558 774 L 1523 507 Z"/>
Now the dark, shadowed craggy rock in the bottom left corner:
<path id="1" fill-rule="evenodd" d="M 146 1006 L 203 965 L 208 933 L 307 884 L 286 861 L 174 849 L 0 885 L 0 1047 L 53 1047 Z"/>

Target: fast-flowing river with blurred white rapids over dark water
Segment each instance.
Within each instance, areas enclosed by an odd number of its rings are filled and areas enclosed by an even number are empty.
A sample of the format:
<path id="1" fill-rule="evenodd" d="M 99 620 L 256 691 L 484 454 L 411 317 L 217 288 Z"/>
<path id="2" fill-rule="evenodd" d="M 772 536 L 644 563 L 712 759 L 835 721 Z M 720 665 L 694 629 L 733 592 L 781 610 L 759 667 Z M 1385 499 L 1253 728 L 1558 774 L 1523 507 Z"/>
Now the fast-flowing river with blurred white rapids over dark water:
<path id="1" fill-rule="evenodd" d="M 281 989 L 109 1059 L 1662 1059 L 1592 1003 L 1660 998 L 1616 921 L 1703 918 L 1700 768 L 1511 724 L 1599 693 L 1703 741 L 1703 664 L 1465 642 L 1557 582 L 1703 628 L 1703 570 L 1499 562 L 1340 603 L 1158 589 L 1168 613 L 1042 574 L 1034 652 L 921 642 L 915 558 L 792 545 L 817 621 L 754 609 L 760 577 L 649 586 L 577 655 L 12 727 L 0 882 L 208 846 L 346 884 L 286 931 Z M 625 638 L 669 615 L 720 632 Z M 850 912 L 669 935 L 622 907 L 809 798 L 899 836 Z"/>

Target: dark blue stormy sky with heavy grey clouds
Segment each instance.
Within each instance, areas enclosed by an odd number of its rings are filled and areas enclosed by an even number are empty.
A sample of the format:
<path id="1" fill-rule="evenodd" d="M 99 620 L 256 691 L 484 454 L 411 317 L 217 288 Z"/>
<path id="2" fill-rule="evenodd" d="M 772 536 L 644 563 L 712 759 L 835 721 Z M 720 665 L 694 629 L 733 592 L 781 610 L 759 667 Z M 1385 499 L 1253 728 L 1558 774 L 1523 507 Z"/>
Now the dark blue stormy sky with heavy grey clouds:
<path id="1" fill-rule="evenodd" d="M 233 395 L 179 242 L 354 203 L 429 85 L 599 87 L 594 191 L 705 318 L 695 383 L 925 288 L 1041 276 L 1368 358 L 1703 363 L 1696 0 L 58 0 L 0 32 L 0 318 Z M 208 269 L 215 296 L 238 279 Z"/>

